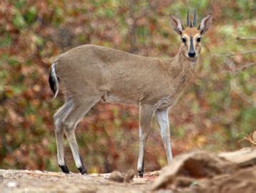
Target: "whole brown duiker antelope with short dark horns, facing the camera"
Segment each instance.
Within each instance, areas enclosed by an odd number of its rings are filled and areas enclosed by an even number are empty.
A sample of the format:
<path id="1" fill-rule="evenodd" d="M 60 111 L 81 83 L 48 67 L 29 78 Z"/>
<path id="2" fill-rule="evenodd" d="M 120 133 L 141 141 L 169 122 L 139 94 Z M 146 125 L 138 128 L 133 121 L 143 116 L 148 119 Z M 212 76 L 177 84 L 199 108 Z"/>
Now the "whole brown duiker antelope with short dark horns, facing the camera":
<path id="1" fill-rule="evenodd" d="M 60 89 L 65 97 L 65 104 L 54 115 L 58 165 L 63 172 L 69 172 L 65 165 L 64 132 L 76 167 L 82 174 L 87 173 L 75 139 L 75 127 L 100 100 L 139 106 L 137 170 L 141 177 L 153 115 L 160 127 L 168 163 L 171 161 L 168 111 L 195 72 L 201 38 L 210 28 L 212 15 L 203 18 L 198 28 L 195 12 L 193 23 L 187 15 L 186 28 L 176 16 L 170 15 L 170 19 L 171 27 L 181 38 L 181 45 L 178 54 L 169 60 L 132 55 L 97 45 L 73 48 L 54 60 L 50 69 L 50 88 L 55 96 Z"/>

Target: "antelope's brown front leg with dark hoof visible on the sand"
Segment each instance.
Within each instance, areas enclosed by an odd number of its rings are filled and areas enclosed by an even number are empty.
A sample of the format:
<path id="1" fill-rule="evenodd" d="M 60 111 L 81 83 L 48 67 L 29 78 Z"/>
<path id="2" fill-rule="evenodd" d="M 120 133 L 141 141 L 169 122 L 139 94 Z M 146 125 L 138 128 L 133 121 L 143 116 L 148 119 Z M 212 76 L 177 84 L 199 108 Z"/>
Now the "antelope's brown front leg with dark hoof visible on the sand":
<path id="1" fill-rule="evenodd" d="M 146 139 L 150 132 L 151 118 L 154 114 L 153 106 L 143 104 L 139 106 L 139 160 L 137 164 L 137 170 L 139 176 L 143 177 L 144 174 L 144 154 Z"/>

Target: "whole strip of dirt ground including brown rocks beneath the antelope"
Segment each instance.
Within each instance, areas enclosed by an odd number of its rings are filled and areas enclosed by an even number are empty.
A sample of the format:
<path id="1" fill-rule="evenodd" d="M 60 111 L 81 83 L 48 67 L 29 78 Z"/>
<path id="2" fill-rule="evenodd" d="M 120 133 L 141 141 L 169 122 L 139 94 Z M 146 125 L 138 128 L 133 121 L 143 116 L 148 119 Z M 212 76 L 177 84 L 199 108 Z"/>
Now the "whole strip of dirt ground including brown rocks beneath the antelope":
<path id="1" fill-rule="evenodd" d="M 202 150 L 184 153 L 143 178 L 131 171 L 65 175 L 0 170 L 0 192 L 255 192 L 256 148 L 220 154 Z"/>

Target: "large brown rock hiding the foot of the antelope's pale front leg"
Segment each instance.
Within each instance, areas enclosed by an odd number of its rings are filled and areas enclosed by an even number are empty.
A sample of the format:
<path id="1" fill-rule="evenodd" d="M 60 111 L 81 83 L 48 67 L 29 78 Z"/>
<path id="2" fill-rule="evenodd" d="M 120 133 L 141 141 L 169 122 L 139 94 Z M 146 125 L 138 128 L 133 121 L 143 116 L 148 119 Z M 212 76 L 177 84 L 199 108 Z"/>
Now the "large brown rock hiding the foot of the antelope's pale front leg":
<path id="1" fill-rule="evenodd" d="M 235 169 L 235 163 L 220 158 L 214 153 L 207 153 L 202 150 L 186 153 L 176 156 L 168 166 L 161 170 L 161 175 L 154 182 L 152 189 L 156 190 L 175 184 L 177 177 L 191 177 L 191 179 L 196 180 L 227 174 L 235 171 Z M 185 182 L 184 184 L 189 183 Z"/>

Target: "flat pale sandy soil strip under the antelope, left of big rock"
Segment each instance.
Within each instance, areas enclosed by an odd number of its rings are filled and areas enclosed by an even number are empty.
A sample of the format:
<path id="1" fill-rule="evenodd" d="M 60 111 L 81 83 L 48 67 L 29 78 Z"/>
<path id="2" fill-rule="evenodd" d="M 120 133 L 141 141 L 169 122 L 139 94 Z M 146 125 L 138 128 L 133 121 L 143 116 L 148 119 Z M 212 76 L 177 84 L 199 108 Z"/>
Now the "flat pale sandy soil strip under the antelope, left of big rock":
<path id="1" fill-rule="evenodd" d="M 62 172 L 0 170 L 0 192 L 150 192 L 156 175 L 135 176 L 133 182 L 108 180 L 110 174 L 80 175 Z M 1 177 L 1 178 L 2 178 Z"/>

